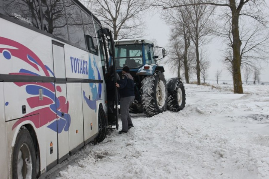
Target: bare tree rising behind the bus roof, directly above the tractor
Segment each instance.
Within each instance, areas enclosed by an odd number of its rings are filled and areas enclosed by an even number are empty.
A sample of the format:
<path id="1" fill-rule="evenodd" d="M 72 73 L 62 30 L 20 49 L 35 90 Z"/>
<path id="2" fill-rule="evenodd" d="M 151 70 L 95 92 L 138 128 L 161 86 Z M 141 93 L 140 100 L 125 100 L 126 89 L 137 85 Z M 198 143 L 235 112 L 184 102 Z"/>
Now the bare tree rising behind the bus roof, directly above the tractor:
<path id="1" fill-rule="evenodd" d="M 113 29 L 114 39 L 143 36 L 144 10 L 149 8 L 147 0 L 84 0 L 88 8 L 103 24 Z"/>

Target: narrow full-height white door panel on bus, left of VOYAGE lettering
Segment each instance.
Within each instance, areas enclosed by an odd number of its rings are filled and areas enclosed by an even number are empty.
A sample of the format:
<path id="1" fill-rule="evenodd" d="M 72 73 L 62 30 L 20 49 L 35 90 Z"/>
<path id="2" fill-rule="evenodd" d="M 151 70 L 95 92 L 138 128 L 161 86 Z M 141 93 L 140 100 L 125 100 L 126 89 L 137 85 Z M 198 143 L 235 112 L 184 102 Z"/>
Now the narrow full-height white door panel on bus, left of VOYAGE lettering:
<path id="1" fill-rule="evenodd" d="M 57 111 L 58 163 L 60 163 L 69 155 L 68 129 L 70 126 L 66 92 L 64 44 L 52 41 L 52 50 Z"/>

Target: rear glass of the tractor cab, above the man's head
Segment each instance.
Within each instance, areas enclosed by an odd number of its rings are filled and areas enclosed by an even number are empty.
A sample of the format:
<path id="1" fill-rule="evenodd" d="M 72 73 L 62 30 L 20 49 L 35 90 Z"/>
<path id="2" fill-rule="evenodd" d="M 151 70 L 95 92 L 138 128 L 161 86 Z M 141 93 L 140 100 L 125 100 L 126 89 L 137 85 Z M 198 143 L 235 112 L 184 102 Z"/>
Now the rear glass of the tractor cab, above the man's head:
<path id="1" fill-rule="evenodd" d="M 115 58 L 117 69 L 121 69 L 124 66 L 128 66 L 129 68 L 142 66 L 142 44 L 115 46 Z"/>

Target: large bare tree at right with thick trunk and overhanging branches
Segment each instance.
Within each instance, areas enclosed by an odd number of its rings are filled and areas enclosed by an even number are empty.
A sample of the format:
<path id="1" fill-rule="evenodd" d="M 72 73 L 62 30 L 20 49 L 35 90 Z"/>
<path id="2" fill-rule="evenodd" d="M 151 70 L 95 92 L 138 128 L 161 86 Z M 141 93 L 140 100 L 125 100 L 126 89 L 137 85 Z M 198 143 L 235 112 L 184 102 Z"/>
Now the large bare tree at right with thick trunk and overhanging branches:
<path id="1" fill-rule="evenodd" d="M 233 72 L 233 88 L 234 93 L 243 93 L 242 86 L 242 77 L 241 77 L 241 47 L 242 41 L 240 38 L 240 30 L 239 30 L 239 18 L 240 16 L 247 16 L 254 18 L 260 24 L 265 24 L 266 19 L 263 15 L 262 8 L 266 7 L 265 0 L 220 0 L 220 1 L 200 1 L 198 3 L 184 4 L 182 1 L 166 1 L 166 0 L 158 0 L 153 4 L 156 7 L 162 7 L 163 9 L 171 9 L 178 7 L 186 7 L 192 5 L 201 5 L 208 4 L 213 6 L 221 6 L 228 7 L 230 9 L 230 22 L 231 22 L 231 47 L 233 49 L 233 60 L 232 60 L 232 72 Z M 244 8 L 243 8 L 244 7 Z M 248 7 L 248 8 L 247 8 Z"/>

